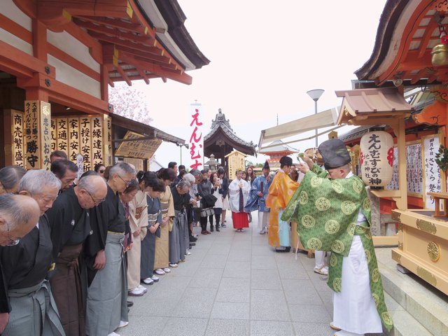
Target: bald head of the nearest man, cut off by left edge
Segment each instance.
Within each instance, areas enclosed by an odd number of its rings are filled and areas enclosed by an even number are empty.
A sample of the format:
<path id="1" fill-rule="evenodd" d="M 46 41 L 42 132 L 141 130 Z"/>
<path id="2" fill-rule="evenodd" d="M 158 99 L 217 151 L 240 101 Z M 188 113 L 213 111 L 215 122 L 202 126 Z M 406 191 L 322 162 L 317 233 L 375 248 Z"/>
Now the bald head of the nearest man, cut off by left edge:
<path id="1" fill-rule="evenodd" d="M 39 216 L 41 209 L 33 198 L 0 195 L 0 246 L 27 235 L 36 226 Z"/>

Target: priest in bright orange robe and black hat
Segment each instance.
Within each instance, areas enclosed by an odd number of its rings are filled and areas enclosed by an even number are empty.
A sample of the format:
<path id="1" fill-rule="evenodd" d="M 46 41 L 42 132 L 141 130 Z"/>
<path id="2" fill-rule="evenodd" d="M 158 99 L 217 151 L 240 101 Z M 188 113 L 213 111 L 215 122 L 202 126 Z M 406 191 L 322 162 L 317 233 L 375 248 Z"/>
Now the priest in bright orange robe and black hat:
<path id="1" fill-rule="evenodd" d="M 269 195 L 266 198 L 266 206 L 271 209 L 269 214 L 269 245 L 275 247 L 276 252 L 290 251 L 290 226 L 288 222 L 281 221 L 283 209 L 288 205 L 291 197 L 299 183 L 289 177 L 290 167 L 293 159 L 282 156 L 280 159 L 280 170 L 276 173 L 269 187 Z"/>

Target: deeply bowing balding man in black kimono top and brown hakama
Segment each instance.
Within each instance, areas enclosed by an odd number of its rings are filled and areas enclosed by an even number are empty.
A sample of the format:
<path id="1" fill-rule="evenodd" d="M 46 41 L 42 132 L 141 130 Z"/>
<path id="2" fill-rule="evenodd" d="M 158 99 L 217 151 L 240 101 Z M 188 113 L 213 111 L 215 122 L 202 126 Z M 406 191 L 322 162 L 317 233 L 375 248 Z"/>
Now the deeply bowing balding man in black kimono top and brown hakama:
<path id="1" fill-rule="evenodd" d="M 88 175 L 78 186 L 61 193 L 47 211 L 56 263 L 50 283 L 67 336 L 85 335 L 86 290 L 81 286 L 78 256 L 92 231 L 87 209 L 101 203 L 106 193 L 102 176 Z"/>

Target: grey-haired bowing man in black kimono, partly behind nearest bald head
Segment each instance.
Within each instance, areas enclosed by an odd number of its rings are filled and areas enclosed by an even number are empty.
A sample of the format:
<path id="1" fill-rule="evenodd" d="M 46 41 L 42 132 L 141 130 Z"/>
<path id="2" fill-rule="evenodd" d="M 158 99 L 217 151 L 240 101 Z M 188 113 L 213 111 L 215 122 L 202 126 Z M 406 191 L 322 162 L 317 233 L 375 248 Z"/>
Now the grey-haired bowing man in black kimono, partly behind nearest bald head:
<path id="1" fill-rule="evenodd" d="M 42 169 L 30 170 L 20 181 L 20 195 L 36 200 L 41 217 L 17 245 L 0 248 L 12 308 L 2 335 L 64 335 L 50 283 L 45 279 L 48 271 L 54 268 L 50 225 L 45 211 L 55 202 L 60 187 L 59 179 Z"/>

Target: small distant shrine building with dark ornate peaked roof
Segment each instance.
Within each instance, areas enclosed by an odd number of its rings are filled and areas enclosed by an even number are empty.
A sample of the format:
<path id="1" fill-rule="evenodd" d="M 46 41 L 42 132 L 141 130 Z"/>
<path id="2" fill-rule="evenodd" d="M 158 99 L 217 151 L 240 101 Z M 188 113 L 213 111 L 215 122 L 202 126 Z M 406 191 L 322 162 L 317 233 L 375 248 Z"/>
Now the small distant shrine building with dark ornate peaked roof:
<path id="1" fill-rule="evenodd" d="M 230 121 L 226 120 L 225 114 L 218 109 L 215 119 L 211 121 L 211 131 L 204 137 L 204 155 L 210 158 L 210 155 L 214 154 L 227 169 L 226 155 L 234 149 L 246 155 L 256 155 L 253 142 L 237 137 L 230 126 Z"/>

